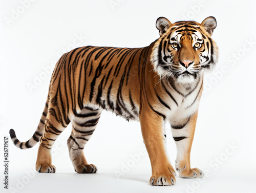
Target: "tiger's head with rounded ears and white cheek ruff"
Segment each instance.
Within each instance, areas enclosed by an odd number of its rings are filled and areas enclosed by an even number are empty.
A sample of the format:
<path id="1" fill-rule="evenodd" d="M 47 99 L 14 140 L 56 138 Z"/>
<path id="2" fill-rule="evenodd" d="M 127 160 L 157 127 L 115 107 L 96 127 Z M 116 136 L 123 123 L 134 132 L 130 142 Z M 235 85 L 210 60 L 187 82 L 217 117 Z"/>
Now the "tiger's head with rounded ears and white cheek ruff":
<path id="1" fill-rule="evenodd" d="M 197 22 L 170 23 L 159 17 L 156 27 L 160 38 L 151 54 L 154 70 L 160 77 L 177 78 L 179 83 L 193 83 L 218 59 L 218 47 L 211 39 L 217 23 L 214 17 Z"/>

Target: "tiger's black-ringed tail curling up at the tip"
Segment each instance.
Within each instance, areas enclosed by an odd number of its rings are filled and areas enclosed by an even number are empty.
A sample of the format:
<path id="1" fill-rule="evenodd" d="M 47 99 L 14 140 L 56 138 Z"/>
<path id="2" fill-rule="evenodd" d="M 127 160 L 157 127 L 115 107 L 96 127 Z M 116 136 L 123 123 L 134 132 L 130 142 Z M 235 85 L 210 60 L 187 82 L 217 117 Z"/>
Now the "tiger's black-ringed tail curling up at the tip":
<path id="1" fill-rule="evenodd" d="M 36 131 L 35 131 L 34 135 L 28 141 L 20 142 L 17 139 L 14 130 L 11 128 L 10 136 L 11 136 L 11 139 L 16 147 L 18 147 L 20 149 L 28 149 L 28 148 L 33 147 L 40 140 L 40 137 L 44 134 L 45 120 L 46 120 L 46 116 L 48 114 L 48 102 L 49 102 L 49 96 L 47 97 L 45 109 L 44 109 L 44 112 L 42 112 L 42 116 L 41 116 L 40 122 L 36 128 Z"/>

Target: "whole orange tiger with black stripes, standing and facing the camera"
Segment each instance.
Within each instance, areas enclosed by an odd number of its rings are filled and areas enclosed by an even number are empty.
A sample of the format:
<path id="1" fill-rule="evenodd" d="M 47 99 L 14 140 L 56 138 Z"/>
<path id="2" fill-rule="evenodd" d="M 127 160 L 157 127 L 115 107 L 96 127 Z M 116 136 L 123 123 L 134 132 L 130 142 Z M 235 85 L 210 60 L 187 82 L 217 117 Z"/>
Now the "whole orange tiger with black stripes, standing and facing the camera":
<path id="1" fill-rule="evenodd" d="M 51 148 L 71 123 L 67 144 L 76 173 L 96 173 L 83 149 L 91 138 L 102 110 L 140 122 L 150 158 L 150 184 L 176 184 L 181 178 L 202 178 L 190 166 L 190 151 L 203 92 L 203 76 L 216 66 L 218 47 L 211 38 L 215 17 L 203 22 L 171 23 L 156 20 L 160 37 L 143 48 L 85 46 L 63 54 L 50 80 L 48 96 L 38 127 L 26 142 L 13 129 L 10 137 L 20 149 L 39 142 L 35 169 L 55 173 Z M 177 146 L 175 169 L 166 152 L 165 122 Z"/>

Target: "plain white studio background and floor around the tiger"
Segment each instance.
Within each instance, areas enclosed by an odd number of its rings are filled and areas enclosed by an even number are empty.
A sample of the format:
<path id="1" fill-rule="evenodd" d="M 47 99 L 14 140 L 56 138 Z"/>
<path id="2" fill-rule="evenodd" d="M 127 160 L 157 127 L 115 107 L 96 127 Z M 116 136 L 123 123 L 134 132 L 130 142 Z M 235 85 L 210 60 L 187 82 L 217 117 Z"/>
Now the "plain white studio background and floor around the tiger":
<path id="1" fill-rule="evenodd" d="M 135 161 L 131 157 L 145 149 L 139 123 L 103 112 L 84 149 L 87 160 L 98 167 L 97 174 L 75 173 L 66 145 L 70 126 L 54 146 L 56 174 L 35 171 L 38 144 L 25 151 L 9 138 L 11 192 L 256 191 L 255 1 L 20 2 L 26 1 L 0 3 L 0 160 L 4 159 L 3 138 L 9 137 L 10 128 L 19 140 L 26 141 L 37 127 L 51 77 L 44 76 L 43 68 L 50 69 L 61 54 L 75 47 L 145 47 L 159 36 L 155 27 L 159 16 L 173 23 L 184 19 L 201 23 L 215 16 L 218 25 L 212 38 L 220 54 L 214 72 L 205 76 L 191 152 L 191 166 L 208 171 L 201 181 L 176 177 L 175 186 L 150 186 L 147 154 L 137 155 Z M 111 6 L 111 2 L 116 5 Z M 19 12 L 18 16 L 13 12 Z M 8 19 L 13 20 L 8 23 Z M 29 90 L 28 84 L 34 84 L 39 76 L 44 79 Z M 168 153 L 174 165 L 176 147 L 168 125 L 167 132 Z M 230 149 L 230 145 L 235 147 Z M 122 172 L 124 165 L 127 168 Z M 116 171 L 122 176 L 117 178 Z M 3 192 L 3 166 L 0 174 Z"/>

